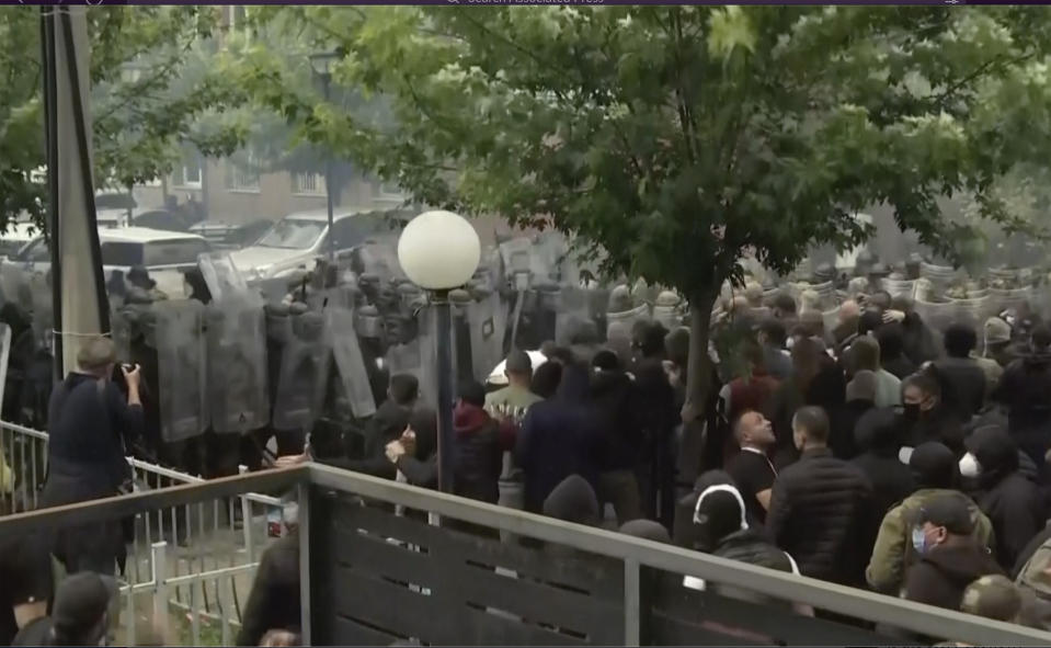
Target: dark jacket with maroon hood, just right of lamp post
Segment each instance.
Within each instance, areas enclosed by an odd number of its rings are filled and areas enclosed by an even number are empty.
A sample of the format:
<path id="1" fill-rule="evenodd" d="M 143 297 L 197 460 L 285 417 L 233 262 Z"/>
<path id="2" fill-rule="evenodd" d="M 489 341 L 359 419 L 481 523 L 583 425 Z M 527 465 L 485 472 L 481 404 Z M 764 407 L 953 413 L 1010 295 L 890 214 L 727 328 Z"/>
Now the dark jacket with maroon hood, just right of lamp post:
<path id="1" fill-rule="evenodd" d="M 460 497 L 495 504 L 500 499 L 503 469 L 500 424 L 484 409 L 460 402 L 453 412 L 455 431 L 454 492 Z"/>

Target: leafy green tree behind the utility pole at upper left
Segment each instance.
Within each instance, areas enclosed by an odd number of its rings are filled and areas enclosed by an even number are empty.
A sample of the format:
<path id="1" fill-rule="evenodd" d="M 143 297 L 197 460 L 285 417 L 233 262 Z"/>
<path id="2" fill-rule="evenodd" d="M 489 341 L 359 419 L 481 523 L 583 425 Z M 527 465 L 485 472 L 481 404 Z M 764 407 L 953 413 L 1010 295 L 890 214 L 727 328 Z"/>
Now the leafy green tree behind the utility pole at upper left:
<path id="1" fill-rule="evenodd" d="M 88 11 L 96 186 L 126 187 L 167 175 L 183 145 L 205 155 L 233 150 L 243 124 L 198 121 L 244 102 L 229 82 L 209 7 L 95 7 Z M 39 12 L 0 8 L 0 231 L 28 213 L 41 223 L 45 164 Z"/>

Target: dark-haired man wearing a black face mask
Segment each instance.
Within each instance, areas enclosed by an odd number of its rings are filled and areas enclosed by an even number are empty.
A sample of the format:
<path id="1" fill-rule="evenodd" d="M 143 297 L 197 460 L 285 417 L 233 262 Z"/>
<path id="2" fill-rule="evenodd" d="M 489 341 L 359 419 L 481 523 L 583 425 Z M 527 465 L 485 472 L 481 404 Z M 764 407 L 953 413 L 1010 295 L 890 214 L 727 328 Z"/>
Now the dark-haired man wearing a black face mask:
<path id="1" fill-rule="evenodd" d="M 941 402 L 941 385 L 928 372 L 913 374 L 902 383 L 902 440 L 916 447 L 936 441 L 962 456 L 963 427 Z"/>

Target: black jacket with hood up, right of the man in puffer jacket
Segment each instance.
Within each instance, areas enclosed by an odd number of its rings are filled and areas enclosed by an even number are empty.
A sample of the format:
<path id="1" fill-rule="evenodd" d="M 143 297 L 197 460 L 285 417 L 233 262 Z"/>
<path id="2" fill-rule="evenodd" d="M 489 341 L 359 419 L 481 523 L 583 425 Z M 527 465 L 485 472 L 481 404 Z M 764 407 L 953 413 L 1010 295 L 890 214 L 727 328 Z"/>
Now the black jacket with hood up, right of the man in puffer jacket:
<path id="1" fill-rule="evenodd" d="M 898 457 L 898 416 L 891 409 L 869 410 L 858 421 L 854 436 L 861 454 L 852 463 L 872 485 L 873 512 L 882 516 L 916 489 L 912 470 Z"/>

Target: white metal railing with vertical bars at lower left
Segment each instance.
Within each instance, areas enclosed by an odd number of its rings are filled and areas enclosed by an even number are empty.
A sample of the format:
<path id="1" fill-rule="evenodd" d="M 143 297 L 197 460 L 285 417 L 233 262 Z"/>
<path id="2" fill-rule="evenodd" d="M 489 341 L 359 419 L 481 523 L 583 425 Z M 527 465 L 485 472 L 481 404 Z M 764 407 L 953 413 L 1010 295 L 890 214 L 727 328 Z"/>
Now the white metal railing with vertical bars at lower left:
<path id="1" fill-rule="evenodd" d="M 7 481 L 0 480 L 0 486 L 8 486 L 5 494 L 22 510 L 39 505 L 47 476 L 47 444 L 46 432 L 0 421 L 0 457 L 9 470 Z M 205 481 L 135 457 L 127 457 L 127 462 L 137 490 Z M 245 471 L 241 466 L 240 473 Z M 262 550 L 282 531 L 283 505 L 279 498 L 241 493 L 229 501 L 137 515 L 122 579 L 125 607 L 133 607 L 136 595 L 152 591 L 156 583 L 167 582 L 165 595 L 175 610 L 189 615 L 195 645 L 199 645 L 202 619 L 219 624 L 226 637 L 226 628 L 240 624 L 241 604 Z M 164 560 L 158 571 L 159 557 Z M 158 573 L 164 578 L 159 580 Z M 125 632 L 127 641 L 134 644 L 135 624 Z"/>

